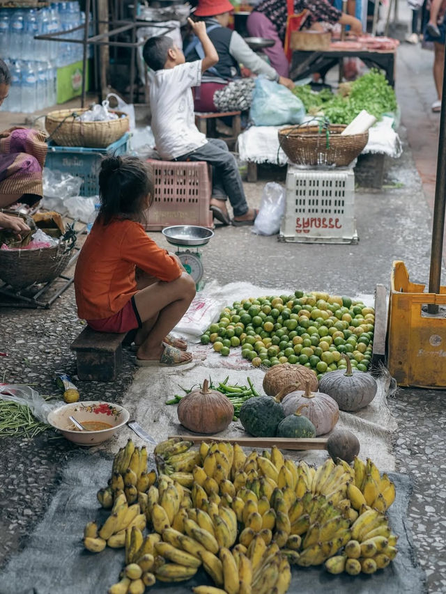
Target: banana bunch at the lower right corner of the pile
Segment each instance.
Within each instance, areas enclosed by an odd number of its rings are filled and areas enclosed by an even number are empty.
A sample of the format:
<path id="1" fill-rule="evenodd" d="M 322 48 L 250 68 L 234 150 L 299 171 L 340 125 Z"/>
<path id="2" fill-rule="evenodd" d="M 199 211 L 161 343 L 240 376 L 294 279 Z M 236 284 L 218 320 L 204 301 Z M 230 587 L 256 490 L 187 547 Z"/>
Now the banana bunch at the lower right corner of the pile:
<path id="1" fill-rule="evenodd" d="M 351 540 L 344 554 L 325 561 L 330 573 L 371 574 L 384 569 L 397 554 L 398 537 L 390 530 L 387 518 L 378 510 L 365 508 L 351 526 Z"/>

